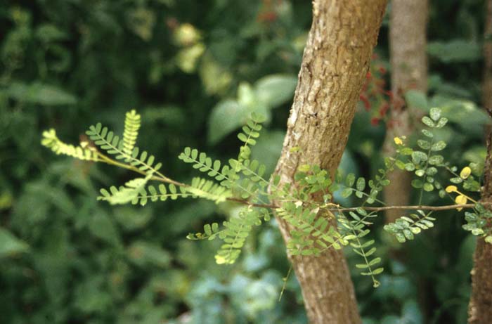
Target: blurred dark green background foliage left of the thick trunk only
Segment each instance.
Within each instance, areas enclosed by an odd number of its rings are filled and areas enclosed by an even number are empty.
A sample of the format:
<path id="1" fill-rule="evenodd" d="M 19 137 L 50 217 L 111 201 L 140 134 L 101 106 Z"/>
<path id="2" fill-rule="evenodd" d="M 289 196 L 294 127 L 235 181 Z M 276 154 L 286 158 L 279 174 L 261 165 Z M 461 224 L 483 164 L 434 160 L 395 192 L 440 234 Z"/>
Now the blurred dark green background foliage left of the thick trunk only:
<path id="1" fill-rule="evenodd" d="M 298 72 L 311 5 L 283 1 L 273 8 L 278 20 L 272 24 L 258 18 L 270 10 L 263 2 L 55 0 L 1 6 L 1 231 L 29 247 L 2 259 L 2 323 L 172 323 L 180 316 L 190 323 L 222 323 L 225 313 L 235 323 L 306 323 L 294 280 L 277 302 L 288 266 L 272 226 L 248 239 L 258 241 L 257 248 L 248 253 L 249 264 L 235 264 L 241 276 L 234 278 L 216 266 L 214 242 L 184 238 L 212 221 L 214 202 L 168 198 L 150 204 L 149 198 L 145 207 L 108 206 L 93 199 L 96 188 L 109 190 L 145 174 L 70 160 L 39 145 L 39 134 L 55 128 L 56 136 L 77 148 L 79 141 L 89 142 L 84 127 L 97 121 L 121 138 L 124 112 L 138 107 L 143 131 L 137 146 L 165 161 L 162 169 L 191 182 L 182 161 L 172 157 L 185 145 L 205 148 L 214 104 L 234 96 L 245 80 L 256 87 L 269 75 L 292 80 Z M 190 66 L 191 72 L 183 71 Z M 282 131 L 287 105 L 271 110 L 272 131 Z M 215 129 L 221 128 L 219 122 Z M 233 140 L 224 138 L 207 153 L 226 162 Z M 106 154 L 93 143 L 85 148 Z M 268 152 L 253 154 L 258 159 Z M 154 184 L 159 192 L 160 183 L 153 182 L 145 188 Z M 219 217 L 229 214 L 226 204 L 220 208 Z M 167 254 L 167 262 L 155 261 L 149 247 Z"/>

